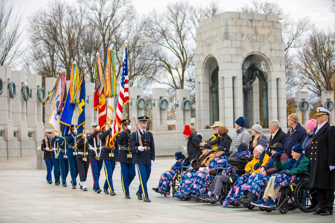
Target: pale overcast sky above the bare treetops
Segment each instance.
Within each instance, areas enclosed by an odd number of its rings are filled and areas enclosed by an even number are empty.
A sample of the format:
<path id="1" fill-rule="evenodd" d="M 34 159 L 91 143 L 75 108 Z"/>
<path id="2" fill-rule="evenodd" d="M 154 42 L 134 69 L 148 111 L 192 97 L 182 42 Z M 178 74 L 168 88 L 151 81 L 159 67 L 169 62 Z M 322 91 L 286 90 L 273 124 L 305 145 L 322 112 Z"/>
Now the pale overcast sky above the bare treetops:
<path id="1" fill-rule="evenodd" d="M 73 3 L 76 0 L 65 0 Z M 14 0 L 20 11 L 23 12 L 24 21 L 26 16 L 30 15 L 37 9 L 48 7 L 48 0 Z M 133 0 L 133 4 L 139 14 L 149 13 L 152 9 L 162 11 L 164 6 L 169 2 L 176 2 L 176 0 Z M 190 4 L 194 6 L 205 6 L 204 0 L 191 0 Z M 237 11 L 241 6 L 250 3 L 251 0 L 218 0 L 220 7 L 223 11 Z M 331 28 L 334 26 L 334 15 L 329 11 L 331 6 L 330 0 L 278 0 L 276 1 L 285 12 L 289 12 L 293 19 L 309 16 L 311 22 L 318 28 Z"/>

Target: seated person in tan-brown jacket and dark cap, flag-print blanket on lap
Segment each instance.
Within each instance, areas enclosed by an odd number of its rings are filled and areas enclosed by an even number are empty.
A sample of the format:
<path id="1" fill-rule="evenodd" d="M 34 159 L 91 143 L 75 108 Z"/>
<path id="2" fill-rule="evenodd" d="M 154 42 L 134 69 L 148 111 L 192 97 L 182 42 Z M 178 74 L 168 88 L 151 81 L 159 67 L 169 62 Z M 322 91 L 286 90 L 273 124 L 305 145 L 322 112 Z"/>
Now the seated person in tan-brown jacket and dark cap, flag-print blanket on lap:
<path id="1" fill-rule="evenodd" d="M 180 188 L 179 191 L 174 194 L 174 197 L 177 197 L 179 199 L 186 199 L 185 196 L 190 196 L 191 194 L 196 195 L 196 190 L 199 188 L 203 188 L 205 185 L 205 178 L 207 174 L 199 174 L 198 171 L 201 167 L 208 167 L 210 164 L 210 161 L 214 159 L 216 156 L 213 153 L 212 146 L 209 144 L 205 144 L 203 147 L 200 147 L 202 150 L 202 155 L 199 157 L 198 161 L 190 168 L 191 171 L 184 171 L 181 174 L 181 180 L 180 180 Z M 198 181 L 197 177 L 200 177 L 201 179 Z"/>

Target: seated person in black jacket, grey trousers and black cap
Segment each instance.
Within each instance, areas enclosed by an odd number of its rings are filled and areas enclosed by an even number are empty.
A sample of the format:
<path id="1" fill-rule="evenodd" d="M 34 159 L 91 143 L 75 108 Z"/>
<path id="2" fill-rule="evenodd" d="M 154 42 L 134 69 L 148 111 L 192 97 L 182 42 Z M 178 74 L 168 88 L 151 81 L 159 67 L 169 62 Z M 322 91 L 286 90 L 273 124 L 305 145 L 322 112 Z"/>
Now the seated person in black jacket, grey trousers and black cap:
<path id="1" fill-rule="evenodd" d="M 211 203 L 217 203 L 221 187 L 223 183 L 230 181 L 231 176 L 235 170 L 244 169 L 250 158 L 250 151 L 248 151 L 248 145 L 246 143 L 240 143 L 236 146 L 237 153 L 232 153 L 227 161 L 227 168 L 224 175 L 217 175 L 213 178 L 212 183 L 208 189 L 208 193 L 199 197 L 203 201 L 210 201 Z"/>

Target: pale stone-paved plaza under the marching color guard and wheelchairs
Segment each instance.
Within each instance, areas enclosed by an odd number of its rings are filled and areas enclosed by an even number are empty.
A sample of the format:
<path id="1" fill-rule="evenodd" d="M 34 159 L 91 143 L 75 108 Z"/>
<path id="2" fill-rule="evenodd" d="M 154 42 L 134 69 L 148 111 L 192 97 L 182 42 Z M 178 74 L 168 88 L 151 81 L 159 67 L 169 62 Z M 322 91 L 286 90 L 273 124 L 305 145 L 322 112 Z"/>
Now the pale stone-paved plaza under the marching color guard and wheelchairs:
<path id="1" fill-rule="evenodd" d="M 335 222 L 333 216 L 314 216 L 299 210 L 282 215 L 265 213 L 258 208 L 221 208 L 195 201 L 179 201 L 153 192 L 162 172 L 170 169 L 174 158 L 157 158 L 148 182 L 151 203 L 137 200 L 139 180 L 131 184 L 131 199 L 125 199 L 120 180 L 120 166 L 113 175 L 116 196 L 92 191 L 89 169 L 87 192 L 46 183 L 46 170 L 36 169 L 36 156 L 0 162 L 0 222 Z M 102 170 L 100 185 L 105 182 Z M 77 178 L 79 180 L 79 177 Z"/>

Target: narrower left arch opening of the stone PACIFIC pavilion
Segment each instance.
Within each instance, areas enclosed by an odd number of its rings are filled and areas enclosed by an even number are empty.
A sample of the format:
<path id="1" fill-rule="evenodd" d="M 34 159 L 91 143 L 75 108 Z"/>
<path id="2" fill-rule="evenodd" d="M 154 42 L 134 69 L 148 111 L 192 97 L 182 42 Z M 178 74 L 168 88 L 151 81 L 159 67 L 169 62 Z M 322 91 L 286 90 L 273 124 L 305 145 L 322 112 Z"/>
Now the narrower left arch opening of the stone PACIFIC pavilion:
<path id="1" fill-rule="evenodd" d="M 208 55 L 203 63 L 202 73 L 208 80 L 209 123 L 219 121 L 218 61 L 214 55 Z M 208 79 L 207 79 L 208 78 Z"/>

